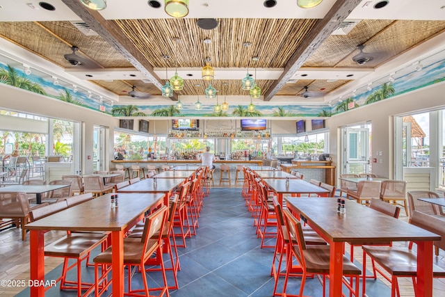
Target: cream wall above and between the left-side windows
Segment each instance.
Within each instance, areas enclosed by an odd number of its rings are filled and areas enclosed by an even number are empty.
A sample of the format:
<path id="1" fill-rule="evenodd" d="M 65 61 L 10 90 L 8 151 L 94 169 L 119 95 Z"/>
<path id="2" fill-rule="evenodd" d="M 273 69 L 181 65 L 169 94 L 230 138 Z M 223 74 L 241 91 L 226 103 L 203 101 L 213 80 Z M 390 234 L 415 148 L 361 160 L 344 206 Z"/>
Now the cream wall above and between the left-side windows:
<path id="1" fill-rule="evenodd" d="M 93 161 L 93 127 L 101 125 L 108 128 L 109 135 L 113 135 L 114 127 L 118 126 L 118 120 L 99 111 L 93 111 L 74 104 L 65 103 L 58 99 L 52 99 L 26 90 L 0 83 L 0 108 L 14 111 L 23 111 L 34 115 L 42 115 L 48 118 L 82 122 L 81 158 L 82 172 L 92 173 Z M 0 122 L 0 129 L 3 124 Z M 105 164 L 110 166 L 113 159 L 113 137 L 106 137 L 108 154 Z M 88 156 L 91 156 L 88 159 Z M 108 169 L 107 168 L 107 169 Z"/>

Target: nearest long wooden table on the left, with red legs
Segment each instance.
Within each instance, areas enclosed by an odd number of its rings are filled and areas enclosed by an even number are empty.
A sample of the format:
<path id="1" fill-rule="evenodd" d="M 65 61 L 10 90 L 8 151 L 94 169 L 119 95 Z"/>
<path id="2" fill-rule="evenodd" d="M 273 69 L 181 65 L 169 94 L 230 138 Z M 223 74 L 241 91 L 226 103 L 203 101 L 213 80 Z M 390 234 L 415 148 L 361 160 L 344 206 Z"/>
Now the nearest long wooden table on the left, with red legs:
<path id="1" fill-rule="evenodd" d="M 119 194 L 111 208 L 111 194 L 77 204 L 25 225 L 30 230 L 30 276 L 44 281 L 44 233 L 47 230 L 111 232 L 113 296 L 124 296 L 124 235 L 144 217 L 145 211 L 163 204 L 163 194 Z M 31 296 L 44 296 L 44 286 L 31 287 Z"/>

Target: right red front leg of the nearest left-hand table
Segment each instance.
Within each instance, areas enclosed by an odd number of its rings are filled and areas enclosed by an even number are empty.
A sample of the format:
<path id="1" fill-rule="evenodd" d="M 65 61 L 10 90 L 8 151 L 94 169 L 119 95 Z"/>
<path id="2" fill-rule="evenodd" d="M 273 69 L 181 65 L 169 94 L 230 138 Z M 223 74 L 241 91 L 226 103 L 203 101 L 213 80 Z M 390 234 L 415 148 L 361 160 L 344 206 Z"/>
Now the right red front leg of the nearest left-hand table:
<path id="1" fill-rule="evenodd" d="M 113 296 L 124 296 L 124 232 L 111 232 Z"/>

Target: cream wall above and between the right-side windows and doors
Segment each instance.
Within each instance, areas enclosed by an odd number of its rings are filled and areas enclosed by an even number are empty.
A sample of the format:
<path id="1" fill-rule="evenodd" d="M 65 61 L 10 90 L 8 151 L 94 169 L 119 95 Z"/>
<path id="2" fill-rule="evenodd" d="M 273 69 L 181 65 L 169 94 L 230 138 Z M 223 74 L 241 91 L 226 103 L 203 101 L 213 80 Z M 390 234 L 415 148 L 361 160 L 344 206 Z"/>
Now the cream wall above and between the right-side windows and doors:
<path id="1" fill-rule="evenodd" d="M 337 166 L 339 175 L 340 127 L 370 121 L 372 125 L 371 150 L 373 158 L 382 159 L 382 163 L 373 163 L 373 173 L 382 177 L 394 175 L 394 129 L 393 116 L 428 109 L 443 109 L 445 107 L 445 83 L 436 83 L 411 93 L 405 93 L 381 102 L 359 107 L 346 113 L 334 115 L 326 120 L 330 130 L 330 153 L 332 161 Z M 376 153 L 382 151 L 382 156 Z"/>

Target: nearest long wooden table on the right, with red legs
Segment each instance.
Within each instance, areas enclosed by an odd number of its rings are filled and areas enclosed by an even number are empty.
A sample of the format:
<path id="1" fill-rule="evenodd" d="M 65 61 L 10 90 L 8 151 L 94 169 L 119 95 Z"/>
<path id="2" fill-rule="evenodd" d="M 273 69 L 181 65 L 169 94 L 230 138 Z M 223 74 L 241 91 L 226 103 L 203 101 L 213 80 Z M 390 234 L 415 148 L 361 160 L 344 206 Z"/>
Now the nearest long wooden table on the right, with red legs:
<path id="1" fill-rule="evenodd" d="M 334 198 L 285 198 L 287 207 L 302 217 L 330 244 L 330 294 L 341 296 L 343 243 L 414 241 L 417 243 L 418 296 L 432 296 L 432 241 L 440 236 L 379 211 L 346 200 L 346 214 L 337 214 Z"/>

